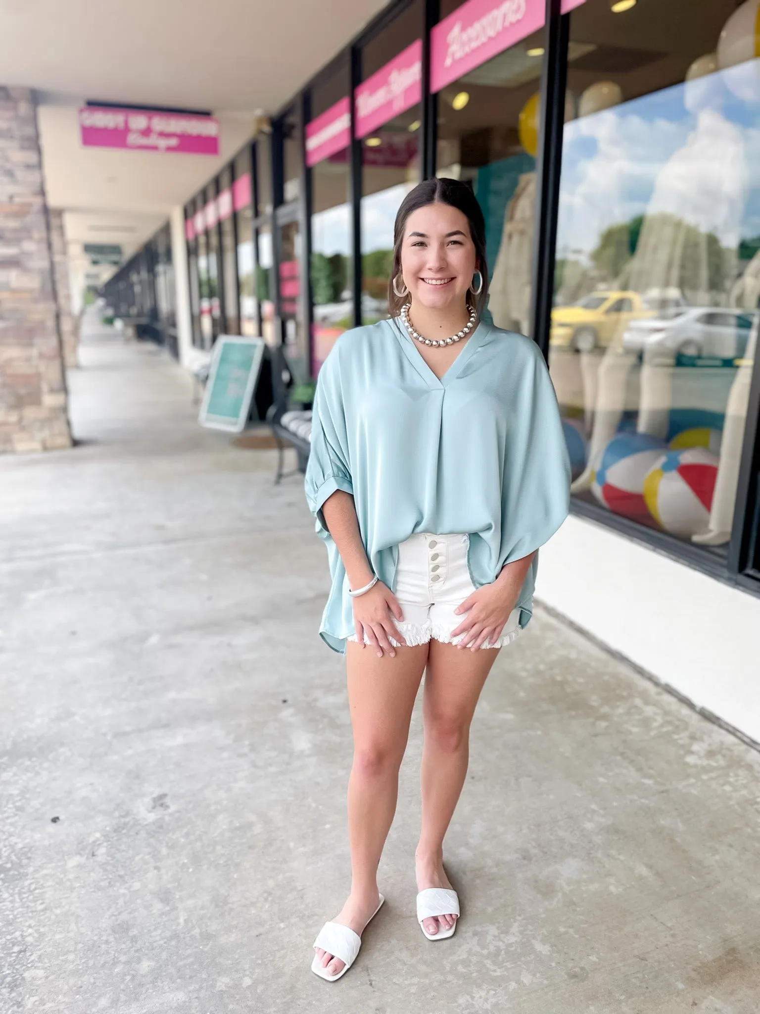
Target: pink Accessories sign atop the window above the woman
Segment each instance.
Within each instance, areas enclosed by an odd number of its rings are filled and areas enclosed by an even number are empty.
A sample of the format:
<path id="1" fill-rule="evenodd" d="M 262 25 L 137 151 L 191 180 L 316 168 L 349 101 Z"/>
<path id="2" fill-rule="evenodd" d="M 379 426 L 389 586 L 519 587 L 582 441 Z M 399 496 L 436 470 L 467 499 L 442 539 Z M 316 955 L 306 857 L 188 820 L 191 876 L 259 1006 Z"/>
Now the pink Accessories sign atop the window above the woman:
<path id="1" fill-rule="evenodd" d="M 562 0 L 562 13 L 585 0 Z M 456 81 L 546 20 L 546 0 L 467 0 L 431 31 L 431 91 Z"/>

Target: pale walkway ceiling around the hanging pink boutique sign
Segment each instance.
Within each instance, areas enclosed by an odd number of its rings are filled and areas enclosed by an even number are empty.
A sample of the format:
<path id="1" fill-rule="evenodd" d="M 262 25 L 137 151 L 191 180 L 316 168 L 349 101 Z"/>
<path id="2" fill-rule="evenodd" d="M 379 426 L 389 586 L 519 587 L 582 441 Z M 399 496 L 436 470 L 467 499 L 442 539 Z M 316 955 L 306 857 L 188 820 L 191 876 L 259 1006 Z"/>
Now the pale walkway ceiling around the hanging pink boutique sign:
<path id="1" fill-rule="evenodd" d="M 387 0 L 0 0 L 0 84 L 36 89 L 69 239 L 136 248 Z M 82 148 L 85 100 L 205 110 L 221 157 Z"/>

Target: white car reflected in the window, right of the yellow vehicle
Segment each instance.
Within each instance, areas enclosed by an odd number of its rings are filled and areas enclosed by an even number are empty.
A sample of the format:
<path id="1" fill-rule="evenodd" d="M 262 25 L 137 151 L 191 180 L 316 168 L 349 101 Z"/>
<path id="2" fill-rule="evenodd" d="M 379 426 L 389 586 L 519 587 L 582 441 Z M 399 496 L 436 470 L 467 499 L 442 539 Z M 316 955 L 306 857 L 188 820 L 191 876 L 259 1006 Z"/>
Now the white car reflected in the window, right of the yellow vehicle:
<path id="1" fill-rule="evenodd" d="M 690 306 L 657 317 L 631 320 L 623 332 L 623 348 L 664 356 L 741 359 L 755 314 L 752 310 Z"/>

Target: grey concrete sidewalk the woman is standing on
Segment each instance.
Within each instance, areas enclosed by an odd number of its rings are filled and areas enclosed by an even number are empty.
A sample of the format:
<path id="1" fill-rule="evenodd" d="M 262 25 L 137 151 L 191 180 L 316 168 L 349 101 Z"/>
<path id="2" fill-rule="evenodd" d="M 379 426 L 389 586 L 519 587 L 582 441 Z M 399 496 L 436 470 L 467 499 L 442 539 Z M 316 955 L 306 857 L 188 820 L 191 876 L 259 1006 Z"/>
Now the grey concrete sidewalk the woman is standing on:
<path id="1" fill-rule="evenodd" d="M 2 1014 L 757 1014 L 760 755 L 540 610 L 473 723 L 456 934 L 414 915 L 419 700 L 386 903 L 317 979 L 352 743 L 302 484 L 152 346 L 81 360 L 84 442 L 0 458 Z"/>

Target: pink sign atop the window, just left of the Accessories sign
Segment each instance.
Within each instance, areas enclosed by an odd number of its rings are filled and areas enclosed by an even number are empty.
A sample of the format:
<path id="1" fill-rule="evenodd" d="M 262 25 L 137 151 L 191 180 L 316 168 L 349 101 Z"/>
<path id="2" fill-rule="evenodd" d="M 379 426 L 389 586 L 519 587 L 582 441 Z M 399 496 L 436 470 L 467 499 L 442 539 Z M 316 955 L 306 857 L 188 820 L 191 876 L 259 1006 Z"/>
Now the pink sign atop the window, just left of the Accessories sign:
<path id="1" fill-rule="evenodd" d="M 423 97 L 423 41 L 417 39 L 355 93 L 357 137 L 366 137 Z"/>

